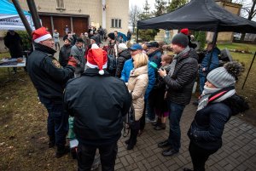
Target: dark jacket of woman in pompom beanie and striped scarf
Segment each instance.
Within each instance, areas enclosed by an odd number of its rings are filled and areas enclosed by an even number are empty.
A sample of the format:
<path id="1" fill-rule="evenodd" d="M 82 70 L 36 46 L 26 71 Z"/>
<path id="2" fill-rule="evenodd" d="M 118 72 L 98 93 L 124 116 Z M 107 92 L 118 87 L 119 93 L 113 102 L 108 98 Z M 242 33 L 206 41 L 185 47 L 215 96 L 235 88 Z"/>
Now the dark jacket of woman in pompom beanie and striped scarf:
<path id="1" fill-rule="evenodd" d="M 247 102 L 236 94 L 222 102 L 207 105 L 196 112 L 189 128 L 189 139 L 203 149 L 218 150 L 222 146 L 225 123 L 232 115 L 247 109 Z"/>

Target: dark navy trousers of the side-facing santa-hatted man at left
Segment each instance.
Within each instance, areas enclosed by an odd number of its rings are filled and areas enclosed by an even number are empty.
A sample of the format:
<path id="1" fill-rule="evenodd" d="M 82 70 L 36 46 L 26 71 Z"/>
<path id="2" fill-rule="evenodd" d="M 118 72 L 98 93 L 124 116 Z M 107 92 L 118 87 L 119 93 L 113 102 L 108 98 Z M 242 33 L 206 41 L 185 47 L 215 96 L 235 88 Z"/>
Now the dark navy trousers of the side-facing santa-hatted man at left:
<path id="1" fill-rule="evenodd" d="M 57 146 L 65 145 L 68 131 L 68 114 L 64 111 L 62 101 L 49 100 L 40 96 L 39 99 L 48 111 L 47 134 L 49 138 L 55 138 Z"/>

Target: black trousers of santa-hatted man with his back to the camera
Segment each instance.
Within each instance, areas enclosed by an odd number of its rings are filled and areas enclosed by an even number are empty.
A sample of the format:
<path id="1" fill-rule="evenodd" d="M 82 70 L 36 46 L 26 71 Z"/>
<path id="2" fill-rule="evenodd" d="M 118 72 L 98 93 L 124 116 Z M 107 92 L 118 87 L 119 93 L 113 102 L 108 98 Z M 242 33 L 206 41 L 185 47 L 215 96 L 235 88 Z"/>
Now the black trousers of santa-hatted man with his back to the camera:
<path id="1" fill-rule="evenodd" d="M 115 158 L 118 152 L 117 142 L 108 145 L 82 145 L 78 146 L 78 171 L 90 171 L 96 149 L 99 149 L 102 162 L 102 171 L 113 171 Z"/>

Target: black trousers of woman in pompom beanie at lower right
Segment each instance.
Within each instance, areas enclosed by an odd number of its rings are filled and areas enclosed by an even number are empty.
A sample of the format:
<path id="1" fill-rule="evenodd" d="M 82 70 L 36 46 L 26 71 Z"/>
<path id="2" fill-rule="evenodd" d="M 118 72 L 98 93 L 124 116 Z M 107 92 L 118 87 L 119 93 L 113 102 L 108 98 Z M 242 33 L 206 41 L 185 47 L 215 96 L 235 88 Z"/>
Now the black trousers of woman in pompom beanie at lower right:
<path id="1" fill-rule="evenodd" d="M 206 150 L 198 145 L 195 145 L 194 142 L 190 141 L 189 143 L 189 154 L 193 163 L 194 171 L 205 171 L 205 164 L 210 155 L 215 153 L 217 150 Z"/>

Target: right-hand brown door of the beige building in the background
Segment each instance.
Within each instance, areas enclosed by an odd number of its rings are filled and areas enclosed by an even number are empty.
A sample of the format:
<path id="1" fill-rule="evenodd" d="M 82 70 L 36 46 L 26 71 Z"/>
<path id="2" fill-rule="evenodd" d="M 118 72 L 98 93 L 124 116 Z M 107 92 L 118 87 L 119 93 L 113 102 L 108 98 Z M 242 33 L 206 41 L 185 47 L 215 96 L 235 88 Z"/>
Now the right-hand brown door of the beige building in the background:
<path id="1" fill-rule="evenodd" d="M 79 37 L 83 32 L 88 31 L 88 18 L 73 17 L 73 31 Z"/>

